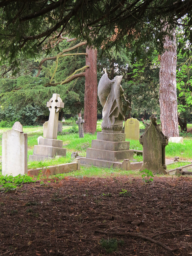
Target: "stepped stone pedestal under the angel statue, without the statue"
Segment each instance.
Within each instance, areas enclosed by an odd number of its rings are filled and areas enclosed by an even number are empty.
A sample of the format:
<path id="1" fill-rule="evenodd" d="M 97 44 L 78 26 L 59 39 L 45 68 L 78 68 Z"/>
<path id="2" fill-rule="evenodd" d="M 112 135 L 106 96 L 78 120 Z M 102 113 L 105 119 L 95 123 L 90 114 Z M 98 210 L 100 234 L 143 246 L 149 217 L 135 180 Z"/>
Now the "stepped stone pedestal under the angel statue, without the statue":
<path id="1" fill-rule="evenodd" d="M 134 151 L 129 150 L 129 142 L 121 131 L 102 130 L 97 139 L 87 148 L 86 157 L 80 157 L 81 164 L 100 167 L 117 167 L 120 160 L 133 159 Z"/>

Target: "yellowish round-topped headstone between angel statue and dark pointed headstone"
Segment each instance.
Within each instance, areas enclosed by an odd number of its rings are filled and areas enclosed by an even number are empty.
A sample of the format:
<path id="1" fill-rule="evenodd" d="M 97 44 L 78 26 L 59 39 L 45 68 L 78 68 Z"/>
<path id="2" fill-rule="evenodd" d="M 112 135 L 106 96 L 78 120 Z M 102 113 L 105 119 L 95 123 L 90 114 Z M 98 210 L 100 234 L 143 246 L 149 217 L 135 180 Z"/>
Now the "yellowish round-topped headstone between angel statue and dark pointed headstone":
<path id="1" fill-rule="evenodd" d="M 125 138 L 139 140 L 139 121 L 136 118 L 129 118 L 125 121 Z"/>

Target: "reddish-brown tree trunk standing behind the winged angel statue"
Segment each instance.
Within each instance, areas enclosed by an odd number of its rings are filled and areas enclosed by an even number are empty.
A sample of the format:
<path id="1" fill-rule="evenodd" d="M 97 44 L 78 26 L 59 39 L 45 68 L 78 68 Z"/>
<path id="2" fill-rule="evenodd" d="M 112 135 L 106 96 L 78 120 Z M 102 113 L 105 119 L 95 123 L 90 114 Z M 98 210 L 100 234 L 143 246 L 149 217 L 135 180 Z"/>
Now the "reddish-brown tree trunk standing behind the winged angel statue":
<path id="1" fill-rule="evenodd" d="M 97 127 L 97 50 L 86 47 L 84 132 L 95 133 Z"/>

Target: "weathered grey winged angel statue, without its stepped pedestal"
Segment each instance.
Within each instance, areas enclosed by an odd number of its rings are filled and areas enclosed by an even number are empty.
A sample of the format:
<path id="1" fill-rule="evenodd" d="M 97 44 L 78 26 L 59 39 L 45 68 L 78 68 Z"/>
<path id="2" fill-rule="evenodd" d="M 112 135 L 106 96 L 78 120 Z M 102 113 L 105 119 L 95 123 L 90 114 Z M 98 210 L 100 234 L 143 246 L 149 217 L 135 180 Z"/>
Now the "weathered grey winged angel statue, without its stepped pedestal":
<path id="1" fill-rule="evenodd" d="M 116 76 L 113 80 L 108 78 L 106 68 L 98 84 L 98 97 L 103 107 L 103 130 L 121 131 L 127 110 L 131 110 L 130 102 L 125 98 L 124 90 L 121 86 L 123 76 Z M 123 106 L 122 98 L 126 101 Z M 124 107 L 124 108 L 123 108 Z"/>

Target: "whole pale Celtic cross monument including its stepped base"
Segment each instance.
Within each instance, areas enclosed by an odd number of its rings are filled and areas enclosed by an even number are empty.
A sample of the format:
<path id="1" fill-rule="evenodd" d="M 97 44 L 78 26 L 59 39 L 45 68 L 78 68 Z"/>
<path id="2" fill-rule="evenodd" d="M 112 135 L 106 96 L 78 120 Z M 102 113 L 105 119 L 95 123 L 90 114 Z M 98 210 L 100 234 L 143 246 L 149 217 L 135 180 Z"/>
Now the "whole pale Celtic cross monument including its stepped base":
<path id="1" fill-rule="evenodd" d="M 63 148 L 63 141 L 57 140 L 59 111 L 64 107 L 60 95 L 54 93 L 47 102 L 47 107 L 50 115 L 46 138 L 39 138 L 39 143 L 34 146 L 33 155 L 29 156 L 29 161 L 44 161 L 55 156 L 66 156 L 66 148 Z"/>

